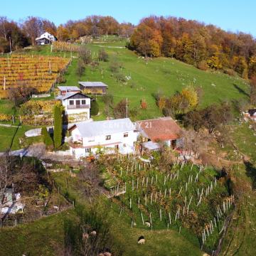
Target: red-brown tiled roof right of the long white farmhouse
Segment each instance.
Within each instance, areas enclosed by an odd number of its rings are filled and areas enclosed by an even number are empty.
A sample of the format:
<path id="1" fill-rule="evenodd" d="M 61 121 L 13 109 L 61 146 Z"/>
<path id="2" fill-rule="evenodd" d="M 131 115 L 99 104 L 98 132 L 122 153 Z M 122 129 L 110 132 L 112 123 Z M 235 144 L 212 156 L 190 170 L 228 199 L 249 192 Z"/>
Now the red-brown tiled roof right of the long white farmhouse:
<path id="1" fill-rule="evenodd" d="M 137 128 L 152 142 L 178 139 L 181 137 L 181 127 L 171 117 L 148 119 L 137 122 Z"/>

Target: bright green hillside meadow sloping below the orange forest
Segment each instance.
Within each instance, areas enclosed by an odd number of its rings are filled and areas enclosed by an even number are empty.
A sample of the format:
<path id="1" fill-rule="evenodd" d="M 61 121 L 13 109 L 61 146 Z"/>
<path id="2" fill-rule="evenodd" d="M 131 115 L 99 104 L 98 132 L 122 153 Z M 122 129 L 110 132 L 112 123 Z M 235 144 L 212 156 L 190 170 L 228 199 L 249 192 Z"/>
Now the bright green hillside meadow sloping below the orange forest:
<path id="1" fill-rule="evenodd" d="M 117 43 L 112 44 L 114 47 L 117 45 Z M 108 43 L 107 45 L 112 44 Z M 105 45 L 106 43 L 102 43 L 102 46 Z M 100 46 L 94 44 L 87 46 L 87 48 L 90 48 L 94 58 L 97 58 Z M 100 62 L 95 71 L 92 71 L 90 66 L 86 66 L 85 74 L 81 78 L 76 74 L 78 60 L 74 59 L 65 75 L 65 85 L 78 85 L 80 80 L 105 82 L 108 85 L 108 92 L 114 96 L 114 102 L 117 103 L 127 97 L 129 107 L 139 111 L 138 119 L 162 115 L 156 106 L 152 93 L 161 92 L 168 97 L 176 91 L 181 91 L 187 85 L 202 88 L 201 107 L 224 100 L 238 100 L 248 97 L 249 85 L 245 80 L 238 77 L 198 70 L 192 65 L 187 65 L 173 58 L 155 58 L 146 63 L 142 57 L 127 48 L 107 48 L 106 46 L 105 50 L 110 55 L 110 61 Z M 130 76 L 130 80 L 125 83 L 117 82 L 110 71 L 112 59 L 116 59 L 122 64 L 123 68 L 120 69 L 120 72 Z M 147 110 L 140 110 L 142 99 L 147 102 Z M 102 108 L 100 111 L 103 111 Z"/>

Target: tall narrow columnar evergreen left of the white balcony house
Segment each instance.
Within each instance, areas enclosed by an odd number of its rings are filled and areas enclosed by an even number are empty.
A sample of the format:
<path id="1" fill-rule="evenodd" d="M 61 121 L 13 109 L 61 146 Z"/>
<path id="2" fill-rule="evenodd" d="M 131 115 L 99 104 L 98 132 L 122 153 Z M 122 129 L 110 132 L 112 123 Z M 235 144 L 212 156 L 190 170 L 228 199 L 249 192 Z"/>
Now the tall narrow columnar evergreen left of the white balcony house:
<path id="1" fill-rule="evenodd" d="M 55 105 L 54 107 L 54 132 L 53 132 L 53 141 L 54 148 L 58 149 L 62 143 L 62 132 L 63 132 L 63 107 L 61 105 Z"/>

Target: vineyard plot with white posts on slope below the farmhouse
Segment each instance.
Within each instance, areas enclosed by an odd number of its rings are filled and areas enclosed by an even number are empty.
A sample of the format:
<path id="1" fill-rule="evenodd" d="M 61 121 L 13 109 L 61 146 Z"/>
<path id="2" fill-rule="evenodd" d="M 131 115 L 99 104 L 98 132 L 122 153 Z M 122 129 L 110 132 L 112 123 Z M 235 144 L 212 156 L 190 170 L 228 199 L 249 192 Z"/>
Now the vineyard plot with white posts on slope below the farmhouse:
<path id="1" fill-rule="evenodd" d="M 234 201 L 218 171 L 174 164 L 163 172 L 157 163 L 127 157 L 104 161 L 103 168 L 119 216 L 131 227 L 176 229 L 205 250 L 215 249 Z"/>

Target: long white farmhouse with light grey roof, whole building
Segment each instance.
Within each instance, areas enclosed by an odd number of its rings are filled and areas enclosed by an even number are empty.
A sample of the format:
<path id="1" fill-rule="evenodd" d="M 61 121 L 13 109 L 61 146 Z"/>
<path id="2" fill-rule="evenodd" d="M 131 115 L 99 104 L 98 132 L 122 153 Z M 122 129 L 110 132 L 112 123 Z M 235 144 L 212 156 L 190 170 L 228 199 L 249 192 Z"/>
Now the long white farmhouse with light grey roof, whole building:
<path id="1" fill-rule="evenodd" d="M 70 127 L 70 153 L 76 159 L 96 154 L 105 149 L 106 154 L 118 150 L 121 154 L 134 153 L 138 133 L 129 118 L 97 122 L 80 122 Z"/>

